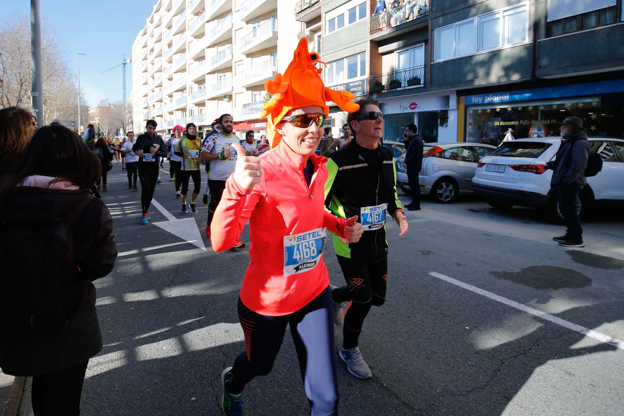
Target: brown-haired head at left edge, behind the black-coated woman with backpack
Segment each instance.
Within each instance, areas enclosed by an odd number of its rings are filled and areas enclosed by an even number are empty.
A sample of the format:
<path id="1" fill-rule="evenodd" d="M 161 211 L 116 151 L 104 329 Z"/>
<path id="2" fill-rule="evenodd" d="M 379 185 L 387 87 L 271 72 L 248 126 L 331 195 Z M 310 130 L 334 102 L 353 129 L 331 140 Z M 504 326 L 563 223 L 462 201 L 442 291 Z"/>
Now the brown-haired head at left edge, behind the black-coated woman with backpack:
<path id="1" fill-rule="evenodd" d="M 31 112 L 20 107 L 0 110 L 0 177 L 14 172 L 19 155 L 37 130 L 37 121 Z"/>

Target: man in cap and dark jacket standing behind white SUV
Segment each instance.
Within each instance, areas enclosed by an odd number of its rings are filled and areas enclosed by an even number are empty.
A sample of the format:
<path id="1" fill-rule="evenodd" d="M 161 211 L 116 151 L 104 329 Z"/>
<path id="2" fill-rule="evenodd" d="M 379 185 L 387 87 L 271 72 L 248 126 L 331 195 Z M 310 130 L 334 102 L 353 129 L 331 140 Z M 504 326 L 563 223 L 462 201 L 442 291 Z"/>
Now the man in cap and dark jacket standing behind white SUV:
<path id="1" fill-rule="evenodd" d="M 583 120 L 578 117 L 566 117 L 559 127 L 563 142 L 553 162 L 546 167 L 553 169 L 550 186 L 557 188 L 559 211 L 565 220 L 565 235 L 553 237 L 563 247 L 584 247 L 583 229 L 578 218 L 578 194 L 587 184 L 585 168 L 589 158 L 590 146 Z"/>

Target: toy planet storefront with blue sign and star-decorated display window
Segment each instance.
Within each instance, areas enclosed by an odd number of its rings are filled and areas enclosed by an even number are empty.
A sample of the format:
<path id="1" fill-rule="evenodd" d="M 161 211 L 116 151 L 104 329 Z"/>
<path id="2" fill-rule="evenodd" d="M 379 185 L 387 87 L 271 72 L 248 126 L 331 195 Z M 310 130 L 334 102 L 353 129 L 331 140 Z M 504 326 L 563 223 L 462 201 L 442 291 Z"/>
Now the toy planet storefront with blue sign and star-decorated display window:
<path id="1" fill-rule="evenodd" d="M 623 137 L 623 92 L 624 82 L 615 80 L 469 95 L 465 140 L 499 145 L 510 129 L 514 138 L 558 136 L 561 122 L 570 116 L 583 120 L 590 136 Z"/>

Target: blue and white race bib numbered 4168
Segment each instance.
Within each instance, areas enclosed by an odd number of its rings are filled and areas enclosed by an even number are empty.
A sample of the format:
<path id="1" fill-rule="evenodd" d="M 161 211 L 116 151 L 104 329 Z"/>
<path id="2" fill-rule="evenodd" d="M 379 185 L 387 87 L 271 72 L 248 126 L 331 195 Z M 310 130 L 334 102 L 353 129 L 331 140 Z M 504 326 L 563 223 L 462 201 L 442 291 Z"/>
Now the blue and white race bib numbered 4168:
<path id="1" fill-rule="evenodd" d="M 324 228 L 284 237 L 284 274 L 304 273 L 321 260 L 327 234 Z"/>

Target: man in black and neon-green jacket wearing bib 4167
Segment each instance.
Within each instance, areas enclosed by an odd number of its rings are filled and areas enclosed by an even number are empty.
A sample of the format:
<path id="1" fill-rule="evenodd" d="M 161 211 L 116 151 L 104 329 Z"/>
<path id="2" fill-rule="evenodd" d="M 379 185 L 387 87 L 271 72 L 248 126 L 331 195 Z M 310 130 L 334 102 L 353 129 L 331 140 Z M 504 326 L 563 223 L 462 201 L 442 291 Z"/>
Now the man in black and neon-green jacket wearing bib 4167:
<path id="1" fill-rule="evenodd" d="M 333 288 L 334 322 L 342 321 L 341 302 L 349 302 L 344 313 L 343 346 L 340 357 L 349 372 L 360 379 L 373 377 L 362 358 L 358 337 L 371 306 L 381 306 L 386 297 L 388 243 L 386 210 L 407 233 L 407 220 L 396 193 L 396 170 L 392 151 L 379 145 L 383 137 L 383 114 L 374 100 L 360 100 L 360 109 L 347 122 L 355 140 L 331 155 L 326 163 L 325 205 L 341 218 L 359 216 L 364 235 L 358 243 L 346 244 L 334 236 L 334 250 L 347 286 Z"/>

